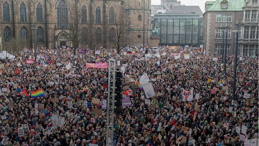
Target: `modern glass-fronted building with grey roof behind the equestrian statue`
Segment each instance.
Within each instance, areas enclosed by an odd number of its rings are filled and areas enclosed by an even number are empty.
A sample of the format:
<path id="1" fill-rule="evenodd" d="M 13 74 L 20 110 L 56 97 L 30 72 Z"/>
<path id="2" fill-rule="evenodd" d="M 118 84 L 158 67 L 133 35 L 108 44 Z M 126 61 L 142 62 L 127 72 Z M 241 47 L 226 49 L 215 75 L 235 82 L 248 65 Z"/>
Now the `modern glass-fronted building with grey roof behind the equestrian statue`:
<path id="1" fill-rule="evenodd" d="M 197 7 L 175 6 L 167 13 L 154 14 L 153 27 L 159 28 L 159 45 L 202 45 L 204 20 L 200 8 L 198 7 L 199 12 Z M 190 12 L 195 9 L 196 11 Z"/>

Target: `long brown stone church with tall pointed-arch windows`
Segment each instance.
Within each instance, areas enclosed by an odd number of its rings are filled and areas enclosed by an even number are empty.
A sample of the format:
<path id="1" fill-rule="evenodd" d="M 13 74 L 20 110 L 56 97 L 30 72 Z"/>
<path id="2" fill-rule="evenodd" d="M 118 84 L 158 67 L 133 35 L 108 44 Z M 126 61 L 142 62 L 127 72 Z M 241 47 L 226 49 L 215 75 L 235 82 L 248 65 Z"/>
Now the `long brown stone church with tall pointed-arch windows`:
<path id="1" fill-rule="evenodd" d="M 66 40 L 68 24 L 64 20 L 76 17 L 78 12 L 81 15 L 78 24 L 80 48 L 87 47 L 92 37 L 96 37 L 97 47 L 113 47 L 109 42 L 109 37 L 112 37 L 109 33 L 114 27 L 110 22 L 114 19 L 112 13 L 116 10 L 125 12 L 127 16 L 127 44 L 143 45 L 143 21 L 145 45 L 149 43 L 152 30 L 151 0 L 0 0 L 0 4 L 0 32 L 3 41 L 19 37 L 24 40 L 22 45 L 26 48 L 34 48 L 32 24 L 38 28 L 35 30 L 37 47 L 70 45 Z M 96 29 L 95 36 L 89 35 L 92 28 Z"/>

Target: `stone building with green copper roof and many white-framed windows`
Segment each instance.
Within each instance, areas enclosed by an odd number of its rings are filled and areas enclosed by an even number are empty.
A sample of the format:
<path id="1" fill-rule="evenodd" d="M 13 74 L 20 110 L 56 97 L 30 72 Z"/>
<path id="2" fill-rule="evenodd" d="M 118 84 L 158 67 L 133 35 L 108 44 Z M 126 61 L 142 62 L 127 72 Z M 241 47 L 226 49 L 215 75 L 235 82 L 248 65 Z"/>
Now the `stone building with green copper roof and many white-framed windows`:
<path id="1" fill-rule="evenodd" d="M 206 1 L 203 16 L 203 49 L 206 54 L 222 55 L 222 48 L 225 48 L 225 40 L 222 47 L 222 28 L 225 26 L 229 27 L 227 55 L 234 54 L 235 35 L 232 31 L 239 23 L 243 32 L 239 36 L 238 55 L 258 56 L 258 0 Z"/>

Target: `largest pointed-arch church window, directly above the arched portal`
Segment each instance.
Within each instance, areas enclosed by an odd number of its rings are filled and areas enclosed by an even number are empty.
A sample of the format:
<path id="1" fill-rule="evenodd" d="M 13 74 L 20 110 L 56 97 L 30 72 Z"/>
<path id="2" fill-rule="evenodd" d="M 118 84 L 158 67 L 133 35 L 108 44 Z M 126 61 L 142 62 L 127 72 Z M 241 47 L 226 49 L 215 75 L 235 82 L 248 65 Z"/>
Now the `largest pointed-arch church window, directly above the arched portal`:
<path id="1" fill-rule="evenodd" d="M 57 28 L 67 28 L 68 5 L 64 0 L 57 4 Z"/>

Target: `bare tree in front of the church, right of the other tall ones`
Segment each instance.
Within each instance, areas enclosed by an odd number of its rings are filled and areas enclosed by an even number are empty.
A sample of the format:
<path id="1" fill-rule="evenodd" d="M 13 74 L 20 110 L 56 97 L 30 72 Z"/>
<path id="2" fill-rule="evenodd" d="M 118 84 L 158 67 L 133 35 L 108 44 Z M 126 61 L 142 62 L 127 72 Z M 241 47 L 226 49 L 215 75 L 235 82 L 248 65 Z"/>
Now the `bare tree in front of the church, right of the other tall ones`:
<path id="1" fill-rule="evenodd" d="M 128 45 L 128 36 L 126 32 L 126 28 L 128 27 L 128 20 L 127 15 L 124 12 L 124 10 L 121 10 L 120 8 L 113 11 L 114 15 L 111 17 L 114 17 L 114 21 L 110 21 L 110 24 L 112 25 L 113 30 L 109 30 L 108 38 L 111 44 L 113 44 L 116 49 L 117 53 L 120 53 L 120 50 L 122 47 L 125 47 Z M 114 33 L 114 34 L 112 34 Z"/>

